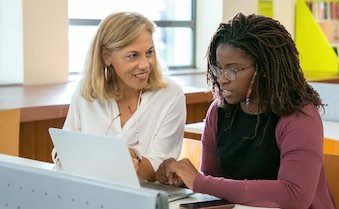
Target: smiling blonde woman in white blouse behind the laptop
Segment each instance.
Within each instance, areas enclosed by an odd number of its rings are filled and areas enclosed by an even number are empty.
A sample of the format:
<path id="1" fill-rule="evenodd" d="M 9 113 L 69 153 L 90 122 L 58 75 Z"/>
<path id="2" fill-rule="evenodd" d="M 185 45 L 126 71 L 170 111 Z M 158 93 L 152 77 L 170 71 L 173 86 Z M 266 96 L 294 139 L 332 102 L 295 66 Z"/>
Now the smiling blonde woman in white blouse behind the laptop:
<path id="1" fill-rule="evenodd" d="M 63 126 L 121 135 L 138 177 L 150 181 L 163 160 L 179 156 L 186 121 L 182 88 L 162 76 L 154 30 L 153 22 L 132 12 L 101 22 Z"/>

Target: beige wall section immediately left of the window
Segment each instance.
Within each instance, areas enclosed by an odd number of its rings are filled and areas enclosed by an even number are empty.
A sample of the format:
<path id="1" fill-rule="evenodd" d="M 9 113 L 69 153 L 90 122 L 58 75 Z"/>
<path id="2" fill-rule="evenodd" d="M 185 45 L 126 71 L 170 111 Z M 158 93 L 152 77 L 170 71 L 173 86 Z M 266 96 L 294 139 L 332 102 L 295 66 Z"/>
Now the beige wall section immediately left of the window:
<path id="1" fill-rule="evenodd" d="M 68 81 L 67 0 L 23 0 L 24 85 Z"/>

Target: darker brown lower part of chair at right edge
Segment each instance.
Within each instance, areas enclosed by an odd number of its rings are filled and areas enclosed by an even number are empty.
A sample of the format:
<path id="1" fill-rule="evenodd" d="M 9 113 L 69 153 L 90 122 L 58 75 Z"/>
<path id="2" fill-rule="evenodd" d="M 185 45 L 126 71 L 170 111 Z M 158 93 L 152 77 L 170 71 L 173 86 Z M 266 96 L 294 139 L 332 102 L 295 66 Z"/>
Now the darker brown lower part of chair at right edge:
<path id="1" fill-rule="evenodd" d="M 338 141 L 339 143 L 339 141 Z M 324 154 L 324 167 L 327 180 L 330 184 L 335 203 L 339 206 L 339 154 Z"/>

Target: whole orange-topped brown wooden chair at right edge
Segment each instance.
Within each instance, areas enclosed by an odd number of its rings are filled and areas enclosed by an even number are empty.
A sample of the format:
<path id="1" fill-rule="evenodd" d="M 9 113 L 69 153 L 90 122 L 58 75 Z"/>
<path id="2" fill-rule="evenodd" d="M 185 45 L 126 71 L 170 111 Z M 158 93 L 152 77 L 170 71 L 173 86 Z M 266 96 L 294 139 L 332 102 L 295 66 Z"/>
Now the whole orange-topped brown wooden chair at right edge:
<path id="1" fill-rule="evenodd" d="M 324 139 L 324 168 L 335 203 L 339 207 L 339 140 Z"/>

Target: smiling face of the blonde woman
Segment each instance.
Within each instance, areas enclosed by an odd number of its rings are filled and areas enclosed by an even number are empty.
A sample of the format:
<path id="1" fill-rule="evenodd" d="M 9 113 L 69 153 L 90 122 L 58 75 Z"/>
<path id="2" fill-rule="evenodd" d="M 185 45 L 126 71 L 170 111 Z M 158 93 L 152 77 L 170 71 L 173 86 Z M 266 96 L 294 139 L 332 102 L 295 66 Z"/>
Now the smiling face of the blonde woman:
<path id="1" fill-rule="evenodd" d="M 154 66 L 154 53 L 152 34 L 143 31 L 125 48 L 111 55 L 104 53 L 103 59 L 107 66 L 113 66 L 121 91 L 140 90 L 146 86 Z"/>

